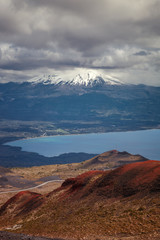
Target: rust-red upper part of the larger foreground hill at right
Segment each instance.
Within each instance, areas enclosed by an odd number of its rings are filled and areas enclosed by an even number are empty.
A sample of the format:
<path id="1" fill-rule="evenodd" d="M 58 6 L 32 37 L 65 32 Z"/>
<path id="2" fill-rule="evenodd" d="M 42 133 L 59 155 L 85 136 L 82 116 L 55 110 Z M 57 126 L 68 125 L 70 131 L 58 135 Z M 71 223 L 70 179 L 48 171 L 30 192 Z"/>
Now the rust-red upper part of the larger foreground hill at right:
<path id="1" fill-rule="evenodd" d="M 83 198 L 94 195 L 94 199 L 100 196 L 117 198 L 160 192 L 160 162 L 148 160 L 110 171 L 89 171 L 67 179 L 52 194 L 61 190 L 63 193 L 60 196 L 77 198 L 78 195 L 78 198 Z"/>

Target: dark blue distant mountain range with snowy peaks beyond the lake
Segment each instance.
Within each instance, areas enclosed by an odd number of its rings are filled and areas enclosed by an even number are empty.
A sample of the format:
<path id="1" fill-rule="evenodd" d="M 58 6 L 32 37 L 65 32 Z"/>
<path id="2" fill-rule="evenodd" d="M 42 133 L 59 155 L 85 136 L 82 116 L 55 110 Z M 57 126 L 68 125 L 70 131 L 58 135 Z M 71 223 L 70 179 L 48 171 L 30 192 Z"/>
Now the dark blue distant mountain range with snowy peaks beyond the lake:
<path id="1" fill-rule="evenodd" d="M 0 119 L 50 121 L 82 132 L 156 128 L 160 87 L 124 84 L 92 72 L 0 84 Z M 97 129 L 97 130 L 96 130 Z"/>

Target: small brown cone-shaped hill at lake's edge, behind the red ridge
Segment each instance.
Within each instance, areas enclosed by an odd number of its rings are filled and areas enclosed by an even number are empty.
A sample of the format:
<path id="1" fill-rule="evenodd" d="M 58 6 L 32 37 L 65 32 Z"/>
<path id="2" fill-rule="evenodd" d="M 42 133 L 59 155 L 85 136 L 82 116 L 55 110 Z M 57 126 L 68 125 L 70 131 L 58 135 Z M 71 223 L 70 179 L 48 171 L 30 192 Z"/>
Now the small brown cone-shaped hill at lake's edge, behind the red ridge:
<path id="1" fill-rule="evenodd" d="M 141 155 L 133 155 L 126 151 L 119 152 L 117 150 L 111 150 L 82 162 L 80 164 L 80 167 L 92 169 L 92 170 L 93 169 L 109 169 L 109 168 L 116 168 L 131 162 L 142 162 L 146 160 L 148 159 Z"/>

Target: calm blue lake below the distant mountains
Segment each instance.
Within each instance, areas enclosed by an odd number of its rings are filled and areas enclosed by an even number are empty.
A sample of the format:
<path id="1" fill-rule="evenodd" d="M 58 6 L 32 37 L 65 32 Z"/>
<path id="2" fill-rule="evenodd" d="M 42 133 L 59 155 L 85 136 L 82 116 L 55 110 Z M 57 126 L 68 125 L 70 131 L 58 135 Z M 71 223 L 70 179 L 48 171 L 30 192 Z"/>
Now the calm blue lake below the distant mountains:
<path id="1" fill-rule="evenodd" d="M 116 149 L 160 160 L 159 129 L 41 137 L 18 140 L 7 145 L 48 157 L 70 152 L 102 153 Z"/>

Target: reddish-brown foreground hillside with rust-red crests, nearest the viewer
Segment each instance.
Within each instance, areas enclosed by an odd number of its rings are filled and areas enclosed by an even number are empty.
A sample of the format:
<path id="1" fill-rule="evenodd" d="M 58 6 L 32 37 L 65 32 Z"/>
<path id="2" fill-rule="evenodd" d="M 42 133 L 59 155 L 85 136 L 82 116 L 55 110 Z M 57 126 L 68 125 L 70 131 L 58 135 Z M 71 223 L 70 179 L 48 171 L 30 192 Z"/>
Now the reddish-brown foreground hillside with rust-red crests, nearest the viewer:
<path id="1" fill-rule="evenodd" d="M 160 162 L 137 162 L 67 179 L 43 197 L 19 193 L 2 206 L 0 225 L 20 222 L 17 232 L 48 237 L 156 239 L 159 200 Z"/>

